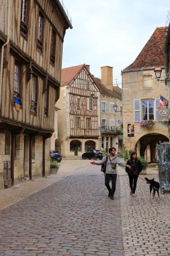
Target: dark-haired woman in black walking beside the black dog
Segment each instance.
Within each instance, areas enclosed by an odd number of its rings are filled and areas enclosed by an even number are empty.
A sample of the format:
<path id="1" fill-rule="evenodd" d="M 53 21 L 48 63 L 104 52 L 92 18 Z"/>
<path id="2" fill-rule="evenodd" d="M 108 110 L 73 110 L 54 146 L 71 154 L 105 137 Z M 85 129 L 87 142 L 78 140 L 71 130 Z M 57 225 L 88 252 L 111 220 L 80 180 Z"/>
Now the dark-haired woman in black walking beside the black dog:
<path id="1" fill-rule="evenodd" d="M 130 159 L 127 161 L 128 165 L 131 166 L 131 168 L 126 167 L 126 172 L 128 173 L 129 177 L 129 185 L 130 185 L 130 195 L 133 197 L 136 197 L 135 191 L 136 191 L 136 184 L 138 180 L 138 174 L 142 170 L 142 164 L 139 159 L 137 159 L 136 152 L 132 152 L 130 154 Z"/>

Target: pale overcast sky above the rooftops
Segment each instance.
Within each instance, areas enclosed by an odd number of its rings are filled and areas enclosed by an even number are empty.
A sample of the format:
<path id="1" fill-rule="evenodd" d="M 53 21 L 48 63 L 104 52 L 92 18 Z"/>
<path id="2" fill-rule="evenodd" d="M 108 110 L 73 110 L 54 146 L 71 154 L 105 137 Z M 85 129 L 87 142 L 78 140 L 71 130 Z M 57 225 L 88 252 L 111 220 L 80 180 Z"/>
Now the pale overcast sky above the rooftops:
<path id="1" fill-rule="evenodd" d="M 66 31 L 62 68 L 85 63 L 100 78 L 100 67 L 109 65 L 114 67 L 114 84 L 119 85 L 121 70 L 136 59 L 155 29 L 170 20 L 169 0 L 63 2 L 73 29 Z"/>

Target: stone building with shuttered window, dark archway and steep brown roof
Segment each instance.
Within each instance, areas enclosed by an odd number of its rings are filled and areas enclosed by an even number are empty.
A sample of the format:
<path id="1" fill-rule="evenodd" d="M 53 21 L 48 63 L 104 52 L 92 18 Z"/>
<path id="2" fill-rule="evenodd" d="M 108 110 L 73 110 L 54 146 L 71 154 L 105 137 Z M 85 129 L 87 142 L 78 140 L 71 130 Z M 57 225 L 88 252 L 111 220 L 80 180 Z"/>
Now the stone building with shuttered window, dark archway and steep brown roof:
<path id="1" fill-rule="evenodd" d="M 158 84 L 154 72 L 161 67 L 165 77 L 166 31 L 167 27 L 157 28 L 134 63 L 122 70 L 124 147 L 145 156 L 148 162 L 157 160 L 157 143 L 169 141 L 167 123 L 159 122 L 160 96 L 168 99 L 168 88 L 163 82 Z"/>

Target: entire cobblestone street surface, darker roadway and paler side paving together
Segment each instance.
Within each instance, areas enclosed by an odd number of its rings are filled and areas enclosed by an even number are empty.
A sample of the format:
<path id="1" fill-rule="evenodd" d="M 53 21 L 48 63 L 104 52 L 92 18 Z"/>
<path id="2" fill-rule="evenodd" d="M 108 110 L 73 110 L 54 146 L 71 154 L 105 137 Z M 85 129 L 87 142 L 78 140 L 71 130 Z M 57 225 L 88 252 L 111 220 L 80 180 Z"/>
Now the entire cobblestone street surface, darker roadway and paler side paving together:
<path id="1" fill-rule="evenodd" d="M 0 191 L 0 255 L 170 255 L 170 194 L 149 199 L 140 175 L 131 197 L 119 167 L 110 200 L 89 162 L 62 160 L 58 174 Z"/>

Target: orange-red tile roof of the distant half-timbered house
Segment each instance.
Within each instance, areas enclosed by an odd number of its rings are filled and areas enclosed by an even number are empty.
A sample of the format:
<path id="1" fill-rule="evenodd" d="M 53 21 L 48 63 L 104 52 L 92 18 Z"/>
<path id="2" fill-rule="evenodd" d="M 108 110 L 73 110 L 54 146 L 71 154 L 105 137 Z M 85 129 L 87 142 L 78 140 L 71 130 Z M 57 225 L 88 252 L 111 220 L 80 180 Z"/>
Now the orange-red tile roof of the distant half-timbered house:
<path id="1" fill-rule="evenodd" d="M 71 81 L 78 75 L 78 73 L 85 67 L 83 65 L 77 65 L 74 67 L 66 67 L 65 69 L 61 69 L 61 86 L 66 86 L 70 84 Z"/>

